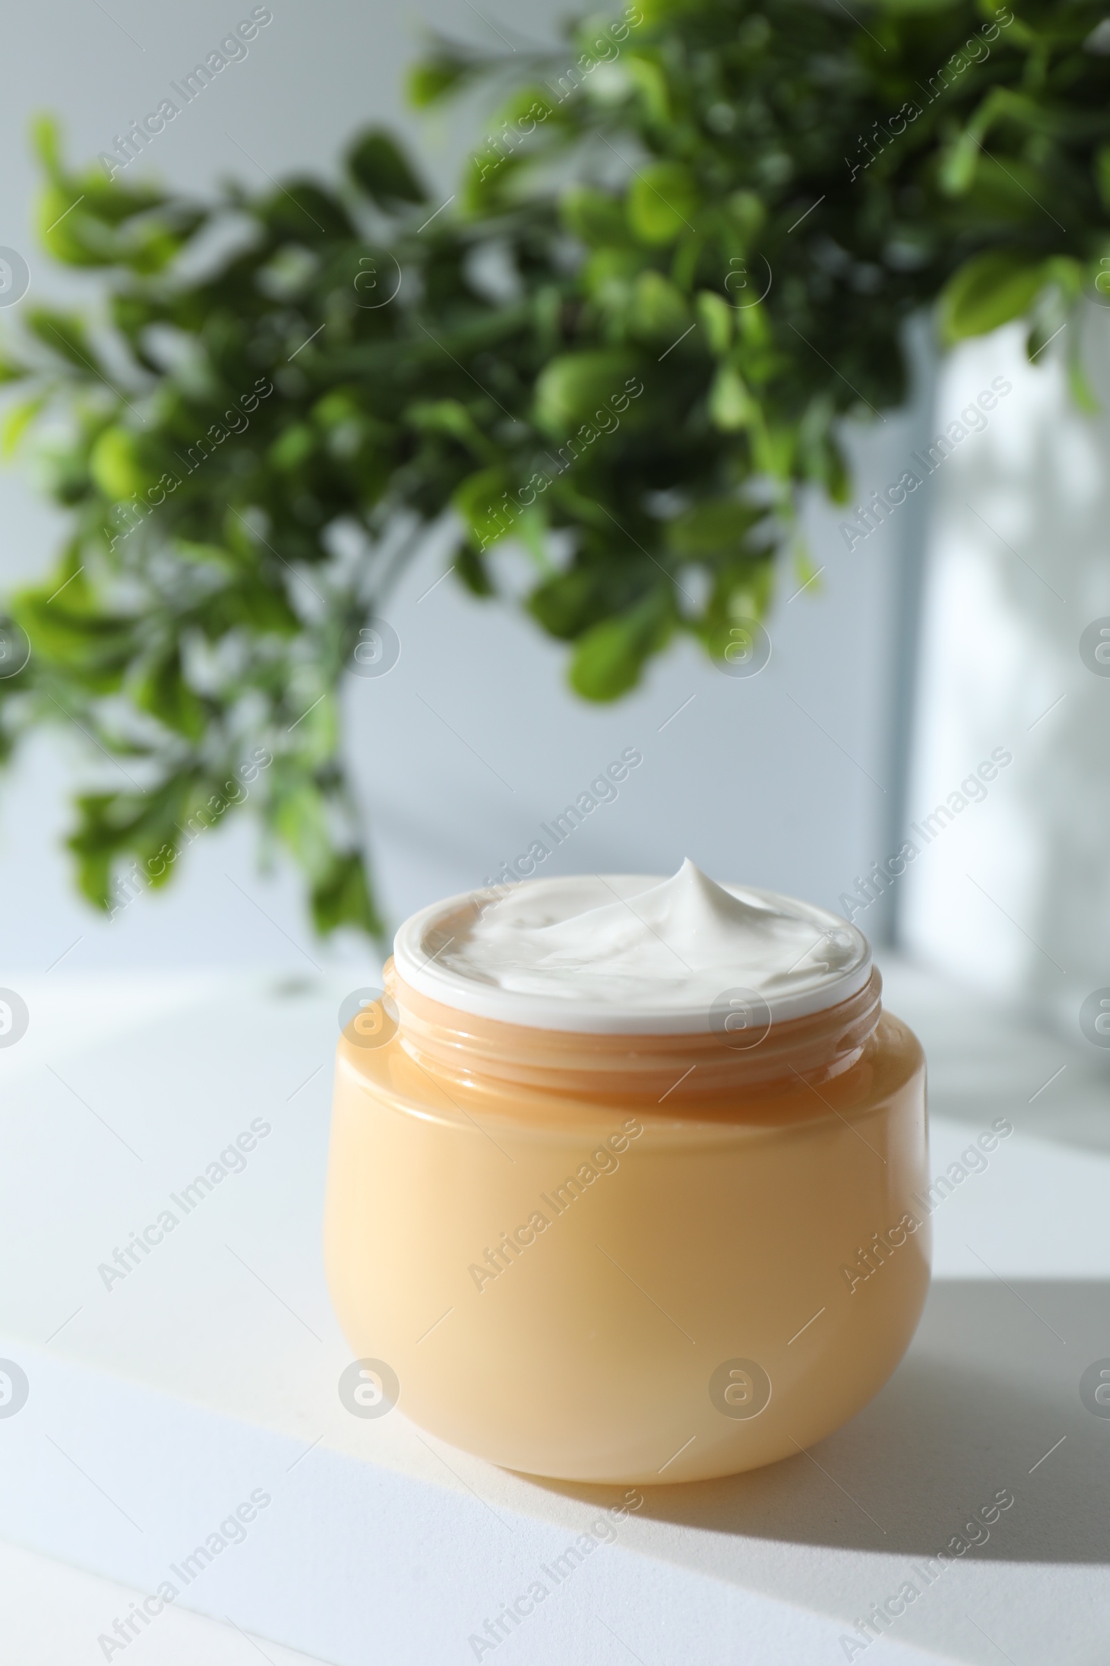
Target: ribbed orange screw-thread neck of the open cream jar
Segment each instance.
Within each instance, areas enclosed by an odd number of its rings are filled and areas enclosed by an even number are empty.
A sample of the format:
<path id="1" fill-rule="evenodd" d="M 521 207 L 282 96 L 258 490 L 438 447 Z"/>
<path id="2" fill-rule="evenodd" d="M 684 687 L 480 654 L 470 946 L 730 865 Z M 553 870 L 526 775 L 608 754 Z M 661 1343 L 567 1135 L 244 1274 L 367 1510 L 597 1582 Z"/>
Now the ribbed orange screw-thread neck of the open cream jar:
<path id="1" fill-rule="evenodd" d="M 386 963 L 383 981 L 398 1010 L 398 1040 L 421 1070 L 459 1086 L 514 1086 L 562 1098 L 621 1098 L 669 1111 L 722 1093 L 810 1085 L 859 1061 L 882 1013 L 874 970 L 857 995 L 804 1018 L 772 1023 L 756 1041 L 704 1035 L 586 1035 L 476 1018 L 419 995 Z"/>

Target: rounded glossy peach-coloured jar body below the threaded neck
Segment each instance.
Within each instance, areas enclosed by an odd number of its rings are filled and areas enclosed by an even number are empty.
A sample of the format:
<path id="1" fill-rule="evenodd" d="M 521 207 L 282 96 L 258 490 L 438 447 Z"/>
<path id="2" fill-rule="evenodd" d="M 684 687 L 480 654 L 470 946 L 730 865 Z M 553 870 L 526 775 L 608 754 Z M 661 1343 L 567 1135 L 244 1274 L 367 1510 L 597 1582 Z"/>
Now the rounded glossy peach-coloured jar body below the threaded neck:
<path id="1" fill-rule="evenodd" d="M 325 1253 L 356 1358 L 493 1463 L 731 1474 L 877 1393 L 929 1286 L 925 1065 L 862 1056 L 731 1106 L 438 1083 L 339 1041 Z"/>

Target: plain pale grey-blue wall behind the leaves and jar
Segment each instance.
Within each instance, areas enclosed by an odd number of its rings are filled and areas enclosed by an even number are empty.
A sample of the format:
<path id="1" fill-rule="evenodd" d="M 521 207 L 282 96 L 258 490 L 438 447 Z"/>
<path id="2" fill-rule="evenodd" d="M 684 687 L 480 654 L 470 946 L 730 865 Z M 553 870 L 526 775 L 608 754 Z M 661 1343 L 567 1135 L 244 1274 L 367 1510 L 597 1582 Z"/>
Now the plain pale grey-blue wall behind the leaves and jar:
<path id="1" fill-rule="evenodd" d="M 0 108 L 0 243 L 25 252 L 32 297 L 92 295 L 95 280 L 55 273 L 37 250 L 30 112 L 57 110 L 70 153 L 93 157 L 248 10 L 228 8 L 228 0 L 165 10 L 113 0 L 110 18 L 98 7 L 55 0 L 10 18 L 8 62 L 18 73 Z M 546 30 L 556 10 L 533 0 L 524 15 L 513 8 L 508 25 L 483 8 L 509 37 Z M 439 180 L 451 177 L 458 132 L 443 118 L 418 127 L 404 117 L 398 82 L 418 48 L 421 17 L 498 45 L 466 0 L 421 0 L 419 12 L 276 0 L 273 12 L 246 62 L 223 72 L 160 135 L 151 168 L 196 190 L 223 175 L 263 185 L 265 173 L 328 167 L 346 135 L 373 118 L 404 120 Z M 905 418 L 860 436 L 862 483 L 897 473 L 915 438 Z M 40 570 L 60 525 L 22 475 L 0 476 L 0 583 Z M 564 651 L 509 610 L 469 600 L 453 578 L 419 600 L 443 570 L 441 555 L 424 550 L 389 608 L 403 641 L 399 665 L 378 681 L 351 678 L 346 691 L 351 756 L 391 920 L 481 883 L 624 746 L 642 751 L 642 766 L 546 871 L 669 871 L 689 853 L 719 876 L 835 905 L 887 840 L 899 796 L 892 725 L 902 660 L 892 635 L 894 540 L 902 533 L 875 535 L 849 556 L 835 525 L 827 510 L 812 516 L 817 565 L 825 565 L 820 588 L 789 600 L 799 580 L 782 573 L 769 621 L 774 655 L 761 676 L 724 676 L 681 645 L 642 691 L 607 708 L 571 696 Z M 75 743 L 80 736 L 37 741 L 0 786 L 5 965 L 42 971 L 68 950 L 63 965 L 75 973 L 213 960 L 311 971 L 313 961 L 339 953 L 311 940 L 285 868 L 258 876 L 245 820 L 206 835 L 166 893 L 138 898 L 111 923 L 93 915 L 75 898 L 58 848 Z M 865 925 L 874 930 L 870 918 Z"/>

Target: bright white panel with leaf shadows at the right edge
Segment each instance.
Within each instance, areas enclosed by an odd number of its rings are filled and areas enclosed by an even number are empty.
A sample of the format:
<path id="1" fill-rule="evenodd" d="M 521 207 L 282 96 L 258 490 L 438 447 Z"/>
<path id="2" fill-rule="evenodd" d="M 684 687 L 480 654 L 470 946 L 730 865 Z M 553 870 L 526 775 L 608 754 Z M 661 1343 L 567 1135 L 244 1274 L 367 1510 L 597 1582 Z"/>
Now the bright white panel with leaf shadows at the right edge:
<path id="1" fill-rule="evenodd" d="M 1078 337 L 1078 340 L 1075 340 Z M 1103 412 L 1072 402 L 1080 347 Z M 1110 615 L 1110 317 L 1082 317 L 1028 365 L 1017 327 L 944 368 L 937 426 L 1002 375 L 1013 392 L 937 471 L 910 815 L 995 746 L 1013 763 L 905 881 L 907 945 L 1075 1033 L 1110 985 L 1110 678 L 1080 656 Z"/>

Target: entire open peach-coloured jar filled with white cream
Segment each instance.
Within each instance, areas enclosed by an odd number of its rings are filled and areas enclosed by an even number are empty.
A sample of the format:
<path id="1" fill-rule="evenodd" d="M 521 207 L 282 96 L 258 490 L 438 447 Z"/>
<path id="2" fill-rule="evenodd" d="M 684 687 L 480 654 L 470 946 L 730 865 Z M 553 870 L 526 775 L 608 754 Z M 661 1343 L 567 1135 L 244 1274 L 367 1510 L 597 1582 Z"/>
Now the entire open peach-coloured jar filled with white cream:
<path id="1" fill-rule="evenodd" d="M 325 1251 L 384 1409 L 662 1484 L 882 1388 L 929 1288 L 925 1061 L 860 931 L 686 861 L 453 896 L 383 978 L 341 1013 Z"/>

